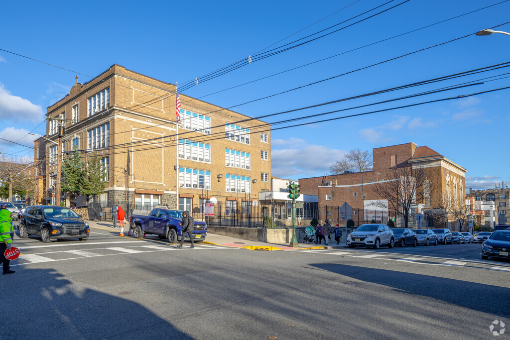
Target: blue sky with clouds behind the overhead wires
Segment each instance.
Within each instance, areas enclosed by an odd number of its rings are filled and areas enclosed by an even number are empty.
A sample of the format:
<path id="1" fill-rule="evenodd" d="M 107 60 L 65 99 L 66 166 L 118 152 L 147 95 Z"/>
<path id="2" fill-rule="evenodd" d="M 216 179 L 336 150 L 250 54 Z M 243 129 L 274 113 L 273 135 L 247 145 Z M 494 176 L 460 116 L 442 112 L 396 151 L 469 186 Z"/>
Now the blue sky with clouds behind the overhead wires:
<path id="1" fill-rule="evenodd" d="M 403 1 L 395 0 L 380 10 Z M 43 2 L 30 2 L 30 5 L 21 5 L 19 2 L 4 3 L 0 12 L 0 48 L 73 72 L 0 51 L 0 138 L 31 145 L 33 138 L 27 135 L 27 132 L 34 129 L 35 133 L 44 134 L 45 124 L 40 123 L 44 120 L 46 107 L 68 93 L 74 84 L 75 72 L 96 76 L 117 63 L 163 81 L 184 84 L 240 59 L 247 59 L 274 43 L 276 44 L 273 47 L 276 47 L 313 34 L 386 2 L 316 1 L 312 5 L 299 0 L 256 3 L 92 1 L 52 2 L 50 6 Z M 231 107 L 287 91 L 510 21 L 507 15 L 510 13 L 510 2 L 504 2 L 347 52 L 498 2 L 500 1 L 411 0 L 337 33 L 252 62 L 214 80 L 200 82 L 184 93 L 222 107 Z M 351 22 L 353 21 L 346 24 Z M 510 32 L 510 24 L 495 30 Z M 285 39 L 294 33 L 296 34 Z M 342 55 L 208 95 L 338 54 Z M 234 110 L 249 116 L 260 116 L 507 61 L 510 61 L 510 36 L 471 35 L 317 85 L 239 106 Z M 304 121 L 487 91 L 510 86 L 510 78 L 499 79 L 508 76 L 502 75 L 508 72 L 510 68 L 493 70 L 278 115 L 266 121 L 274 123 L 283 119 L 342 110 L 496 76 L 493 81 L 486 80 L 484 84 L 476 86 Z M 80 75 L 80 82 L 88 80 L 89 77 Z M 427 145 L 468 169 L 466 189 L 493 187 L 496 182 L 510 181 L 506 170 L 510 165 L 506 155 L 510 125 L 509 93 L 510 90 L 502 90 L 275 130 L 272 132 L 272 173 L 274 176 L 291 178 L 320 176 L 328 172 L 329 166 L 349 149 L 371 150 L 374 147 L 414 142 Z M 28 148 L 0 142 L 3 152 L 17 156 L 32 155 Z"/>

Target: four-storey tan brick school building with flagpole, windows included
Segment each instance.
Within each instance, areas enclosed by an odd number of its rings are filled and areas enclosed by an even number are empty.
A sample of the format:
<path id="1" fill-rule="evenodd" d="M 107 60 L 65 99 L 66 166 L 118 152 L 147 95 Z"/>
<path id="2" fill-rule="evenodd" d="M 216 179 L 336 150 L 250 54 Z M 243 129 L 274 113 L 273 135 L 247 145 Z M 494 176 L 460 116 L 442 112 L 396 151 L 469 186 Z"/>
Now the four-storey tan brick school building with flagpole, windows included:
<path id="1" fill-rule="evenodd" d="M 270 125 L 184 94 L 177 123 L 175 90 L 112 65 L 85 84 L 77 78 L 69 94 L 47 108 L 46 137 L 57 141 L 63 124 L 64 155 L 78 150 L 84 160 L 99 156 L 102 202 L 122 203 L 127 196 L 134 208 L 192 210 L 205 199 L 234 205 L 257 200 L 271 178 Z M 51 192 L 57 145 L 47 143 L 46 154 Z"/>

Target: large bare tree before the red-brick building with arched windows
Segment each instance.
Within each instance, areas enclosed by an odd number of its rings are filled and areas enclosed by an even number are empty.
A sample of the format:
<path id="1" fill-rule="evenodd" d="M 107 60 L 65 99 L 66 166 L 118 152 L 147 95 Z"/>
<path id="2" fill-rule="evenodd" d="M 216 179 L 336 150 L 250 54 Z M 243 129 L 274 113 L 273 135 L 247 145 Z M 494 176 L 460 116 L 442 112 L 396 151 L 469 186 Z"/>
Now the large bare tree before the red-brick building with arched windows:
<path id="1" fill-rule="evenodd" d="M 375 205 L 389 208 L 402 216 L 407 228 L 413 213 L 411 208 L 423 202 L 423 184 L 428 178 L 428 172 L 424 168 L 402 167 L 389 170 L 384 178 L 373 185 L 374 193 L 381 198 Z"/>

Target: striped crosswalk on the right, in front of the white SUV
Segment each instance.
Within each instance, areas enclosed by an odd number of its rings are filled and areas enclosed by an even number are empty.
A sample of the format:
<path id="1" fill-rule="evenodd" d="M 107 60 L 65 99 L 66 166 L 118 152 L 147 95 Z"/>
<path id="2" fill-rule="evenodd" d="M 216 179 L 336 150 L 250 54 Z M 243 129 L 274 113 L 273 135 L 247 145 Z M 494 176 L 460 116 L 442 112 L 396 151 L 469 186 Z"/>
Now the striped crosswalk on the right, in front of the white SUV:
<path id="1" fill-rule="evenodd" d="M 296 250 L 286 250 L 286 251 L 296 251 Z M 429 265 L 429 266 L 451 266 L 451 267 L 471 267 L 471 268 L 479 268 L 479 269 L 488 269 L 488 270 L 498 270 L 498 271 L 506 271 L 510 272 L 510 264 L 504 262 L 498 266 L 495 261 L 462 261 L 451 259 L 447 260 L 444 258 L 438 257 L 430 257 L 430 256 L 409 256 L 403 254 L 393 254 L 393 253 L 366 253 L 366 252 L 350 252 L 350 251 L 339 251 L 339 250 L 329 250 L 329 249 L 311 249 L 311 250 L 298 250 L 296 252 L 300 253 L 320 253 L 326 255 L 335 255 L 335 256 L 350 256 L 356 258 L 370 258 L 370 259 L 380 259 L 380 260 L 389 260 L 389 261 L 399 261 L 406 263 L 415 263 L 421 265 Z"/>

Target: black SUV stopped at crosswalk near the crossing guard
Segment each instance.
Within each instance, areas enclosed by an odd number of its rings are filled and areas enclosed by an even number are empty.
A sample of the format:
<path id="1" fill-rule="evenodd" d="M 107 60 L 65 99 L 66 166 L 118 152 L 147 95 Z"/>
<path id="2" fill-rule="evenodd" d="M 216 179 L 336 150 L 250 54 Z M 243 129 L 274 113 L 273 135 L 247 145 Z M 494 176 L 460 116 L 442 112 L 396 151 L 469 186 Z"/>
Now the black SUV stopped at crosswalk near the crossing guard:
<path id="1" fill-rule="evenodd" d="M 41 237 L 44 243 L 60 239 L 89 238 L 89 224 L 82 220 L 70 208 L 52 205 L 28 206 L 18 226 L 19 237 L 26 239 L 29 235 Z"/>

